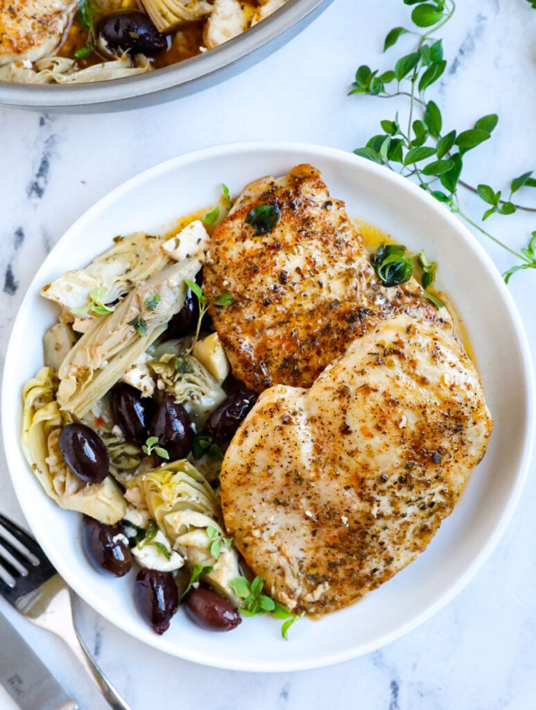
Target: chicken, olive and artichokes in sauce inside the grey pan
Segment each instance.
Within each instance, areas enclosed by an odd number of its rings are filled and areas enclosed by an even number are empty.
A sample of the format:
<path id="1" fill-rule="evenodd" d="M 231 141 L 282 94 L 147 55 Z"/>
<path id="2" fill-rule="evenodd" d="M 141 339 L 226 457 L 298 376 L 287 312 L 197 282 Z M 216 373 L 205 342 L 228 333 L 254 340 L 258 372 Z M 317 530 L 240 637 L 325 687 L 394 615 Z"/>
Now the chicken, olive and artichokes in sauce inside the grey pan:
<path id="1" fill-rule="evenodd" d="M 217 47 L 287 0 L 0 0 L 0 81 L 119 79 Z"/>

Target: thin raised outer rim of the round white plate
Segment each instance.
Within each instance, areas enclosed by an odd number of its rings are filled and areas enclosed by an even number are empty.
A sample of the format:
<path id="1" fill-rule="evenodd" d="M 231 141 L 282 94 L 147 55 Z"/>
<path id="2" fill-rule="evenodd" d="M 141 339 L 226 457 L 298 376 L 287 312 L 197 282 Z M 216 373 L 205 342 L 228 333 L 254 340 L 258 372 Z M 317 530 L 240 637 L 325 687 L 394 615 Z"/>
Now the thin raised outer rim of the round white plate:
<path id="1" fill-rule="evenodd" d="M 408 622 L 396 626 L 396 628 L 391 630 L 389 633 L 384 633 L 383 635 L 381 635 L 380 637 L 376 637 L 373 641 L 369 643 L 362 643 L 358 649 L 353 646 L 351 648 L 346 648 L 345 650 L 342 650 L 340 653 L 332 652 L 329 657 L 319 657 L 315 661 L 305 660 L 303 662 L 300 662 L 299 660 L 297 660 L 292 663 L 288 662 L 288 660 L 285 660 L 284 667 L 282 667 L 280 663 L 275 661 L 270 663 L 263 662 L 263 666 L 258 667 L 254 660 L 251 660 L 247 663 L 237 664 L 232 660 L 227 661 L 225 657 L 219 657 L 218 662 L 214 662 L 212 658 L 204 657 L 202 653 L 196 651 L 185 653 L 182 650 L 179 651 L 163 648 L 160 643 L 157 643 L 160 637 L 154 635 L 155 643 L 151 643 L 151 637 L 141 638 L 140 635 L 136 633 L 136 630 L 126 628 L 124 624 L 119 625 L 114 620 L 111 613 L 103 613 L 100 608 L 96 610 L 97 613 L 102 614 L 102 616 L 104 616 L 104 618 L 110 621 L 110 623 L 114 624 L 114 626 L 117 626 L 118 628 L 121 628 L 121 630 L 124 630 L 126 633 L 133 635 L 134 638 L 141 640 L 142 643 L 148 643 L 149 645 L 152 645 L 158 650 L 163 650 L 164 652 L 168 652 L 185 660 L 198 662 L 203 665 L 209 665 L 212 667 L 220 667 L 227 670 L 243 670 L 249 672 L 281 672 L 283 670 L 308 670 L 317 667 L 325 667 L 327 665 L 332 665 L 334 663 L 341 662 L 344 660 L 349 660 L 350 658 L 357 657 L 359 655 L 371 652 L 372 650 L 381 648 L 383 645 L 386 645 L 391 641 L 400 638 L 401 636 L 405 635 L 405 633 L 408 633 L 413 628 L 417 628 L 417 626 L 420 626 L 422 623 L 427 621 L 427 619 L 433 616 L 434 613 L 437 613 L 439 609 L 441 609 L 447 603 L 449 603 L 449 601 L 454 599 L 454 596 L 459 594 L 459 591 L 461 591 L 461 589 L 463 589 L 464 586 L 469 583 L 469 581 L 474 577 L 476 572 L 478 572 L 478 569 L 481 569 L 484 562 L 486 562 L 486 559 L 488 559 L 488 557 L 491 555 L 491 552 L 493 552 L 493 550 L 495 549 L 499 540 L 501 540 L 501 537 L 505 532 L 508 523 L 510 522 L 513 516 L 513 513 L 515 512 L 515 508 L 519 502 L 521 493 L 523 492 L 523 487 L 527 479 L 530 461 L 532 459 L 532 447 L 534 444 L 535 435 L 536 392 L 532 361 L 529 356 L 530 349 L 528 346 L 525 329 L 523 327 L 523 322 L 520 318 L 518 309 L 515 305 L 512 295 L 503 283 L 503 280 L 501 279 L 501 276 L 499 275 L 496 266 L 491 260 L 491 257 L 488 256 L 488 253 L 483 249 L 483 246 L 478 242 L 474 235 L 471 234 L 469 229 L 467 229 L 464 224 L 461 224 L 459 219 L 454 217 L 453 214 L 451 214 L 439 202 L 434 200 L 433 197 L 427 195 L 427 193 L 420 190 L 420 188 L 410 182 L 410 180 L 402 178 L 396 173 L 390 173 L 388 170 L 385 170 L 383 166 L 371 163 L 370 161 L 364 158 L 360 158 L 359 156 L 354 155 L 352 153 L 341 151 L 338 148 L 319 146 L 316 143 L 304 143 L 295 141 L 241 141 L 237 143 L 225 143 L 223 145 L 209 146 L 207 148 L 202 148 L 200 150 L 192 151 L 190 153 L 183 153 L 182 155 L 177 155 L 174 158 L 170 158 L 163 162 L 157 163 L 151 168 L 143 170 L 141 173 L 133 175 L 128 180 L 121 182 L 114 188 L 114 190 L 111 190 L 111 192 L 109 192 L 107 195 L 104 195 L 104 197 L 101 197 L 99 200 L 97 200 L 97 202 L 94 202 L 94 204 L 92 204 L 91 207 L 89 207 L 85 212 L 83 212 L 80 217 L 75 220 L 75 222 L 65 231 L 65 233 L 60 236 L 53 249 L 50 251 L 43 263 L 40 264 L 38 271 L 35 273 L 33 279 L 31 280 L 31 284 L 28 287 L 28 291 L 24 296 L 23 301 L 21 302 L 16 318 L 13 321 L 11 333 L 9 335 L 9 344 L 6 349 L 6 359 L 4 364 L 4 375 L 2 378 L 1 418 L 2 437 L 4 439 L 4 447 L 6 452 L 6 459 L 8 461 L 11 482 L 16 492 L 18 503 L 21 505 L 26 520 L 28 520 L 28 523 L 33 529 L 33 525 L 31 523 L 32 515 L 28 515 L 29 506 L 26 504 L 24 496 L 20 494 L 21 491 L 19 490 L 19 486 L 17 484 L 17 476 L 15 476 L 12 472 L 16 468 L 17 463 L 16 461 L 13 461 L 15 457 L 14 452 L 17 451 L 20 454 L 20 442 L 17 441 L 16 445 L 13 445 L 11 443 L 8 443 L 8 439 L 6 437 L 6 417 L 9 417 L 10 404 L 7 401 L 8 388 L 6 388 L 6 381 L 9 377 L 9 372 L 11 371 L 11 362 L 15 357 L 14 351 L 16 349 L 16 341 L 13 338 L 13 334 L 16 333 L 16 325 L 19 321 L 19 318 L 21 317 L 21 313 L 23 313 L 23 311 L 26 310 L 26 308 L 28 307 L 28 301 L 30 301 L 35 296 L 35 288 L 40 287 L 40 273 L 42 273 L 42 271 L 44 271 L 45 268 L 47 268 L 47 266 L 51 262 L 55 261 L 55 253 L 59 249 L 60 242 L 64 241 L 65 239 L 68 239 L 72 232 L 76 233 L 76 231 L 80 230 L 86 222 L 91 222 L 92 219 L 94 219 L 94 217 L 99 214 L 100 211 L 105 210 L 106 207 L 109 206 L 109 204 L 113 204 L 122 193 L 130 192 L 133 188 L 135 189 L 136 187 L 142 186 L 146 181 L 150 182 L 153 178 L 155 178 L 155 176 L 159 175 L 160 173 L 166 173 L 168 170 L 171 170 L 172 172 L 175 170 L 185 170 L 187 168 L 187 165 L 189 165 L 190 163 L 195 163 L 198 160 L 221 157 L 229 158 L 229 156 L 236 152 L 258 153 L 259 151 L 300 152 L 304 153 L 304 156 L 305 158 L 307 158 L 307 160 L 314 160 L 315 157 L 325 157 L 334 160 L 342 160 L 344 163 L 358 165 L 361 169 L 365 171 L 371 170 L 373 174 L 381 176 L 381 180 L 387 180 L 387 182 L 395 182 L 398 187 L 403 188 L 403 190 L 412 193 L 415 197 L 417 197 L 418 200 L 425 200 L 425 202 L 429 201 L 429 204 L 433 205 L 434 211 L 437 212 L 437 214 L 440 214 L 442 219 L 445 219 L 447 223 L 451 224 L 451 226 L 456 231 L 459 231 L 464 236 L 464 241 L 466 241 L 470 249 L 474 250 L 478 254 L 478 257 L 481 258 L 484 265 L 486 266 L 489 275 L 491 276 L 491 278 L 493 278 L 496 287 L 501 290 L 501 296 L 505 301 L 505 305 L 507 305 L 508 307 L 508 312 L 510 313 L 512 325 L 518 337 L 520 355 L 522 356 L 523 363 L 523 381 L 527 385 L 527 418 L 525 426 L 525 446 L 523 447 L 523 456 L 521 457 L 520 465 L 518 466 L 518 474 L 517 476 L 515 476 L 515 484 L 510 488 L 508 499 L 507 501 L 505 501 L 505 504 L 501 509 L 501 515 L 499 516 L 498 520 L 496 521 L 496 524 L 494 525 L 493 533 L 487 537 L 485 544 L 481 546 L 481 549 L 478 554 L 473 559 L 471 559 L 471 562 L 468 564 L 465 572 L 460 574 L 453 584 L 449 585 L 449 587 L 442 594 L 439 594 L 437 599 L 433 603 L 430 603 L 424 610 L 420 611 L 420 613 L 416 613 L 410 618 Z M 442 212 L 439 210 L 439 207 L 442 207 Z M 47 553 L 48 552 L 49 551 L 47 550 Z M 84 599 L 83 595 L 80 596 L 82 596 L 82 599 Z M 89 606 L 94 608 L 92 603 L 87 603 L 89 604 Z"/>

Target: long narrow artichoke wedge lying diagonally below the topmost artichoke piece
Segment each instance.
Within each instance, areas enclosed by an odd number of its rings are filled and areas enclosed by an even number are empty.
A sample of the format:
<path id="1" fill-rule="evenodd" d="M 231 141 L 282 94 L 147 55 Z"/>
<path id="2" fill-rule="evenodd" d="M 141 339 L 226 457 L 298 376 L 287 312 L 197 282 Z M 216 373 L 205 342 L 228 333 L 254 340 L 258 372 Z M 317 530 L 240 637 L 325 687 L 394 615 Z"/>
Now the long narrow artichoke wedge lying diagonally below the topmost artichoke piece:
<path id="1" fill-rule="evenodd" d="M 67 354 L 58 375 L 58 403 L 83 417 L 162 334 L 185 302 L 185 279 L 201 268 L 199 258 L 167 266 L 133 288 L 116 310 L 92 322 Z M 158 305 L 146 304 L 158 296 Z"/>

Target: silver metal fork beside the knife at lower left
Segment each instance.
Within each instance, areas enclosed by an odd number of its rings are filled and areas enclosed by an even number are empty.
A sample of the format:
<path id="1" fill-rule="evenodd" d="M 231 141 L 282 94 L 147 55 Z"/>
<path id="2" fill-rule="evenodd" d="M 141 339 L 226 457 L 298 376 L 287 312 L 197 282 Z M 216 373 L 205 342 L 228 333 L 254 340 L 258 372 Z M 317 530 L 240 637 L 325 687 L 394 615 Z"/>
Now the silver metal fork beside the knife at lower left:
<path id="1" fill-rule="evenodd" d="M 11 539 L 6 537 L 6 531 Z M 114 710 L 131 710 L 89 654 L 72 613 L 72 590 L 35 538 L 0 514 L 0 594 L 37 626 L 69 646 Z"/>

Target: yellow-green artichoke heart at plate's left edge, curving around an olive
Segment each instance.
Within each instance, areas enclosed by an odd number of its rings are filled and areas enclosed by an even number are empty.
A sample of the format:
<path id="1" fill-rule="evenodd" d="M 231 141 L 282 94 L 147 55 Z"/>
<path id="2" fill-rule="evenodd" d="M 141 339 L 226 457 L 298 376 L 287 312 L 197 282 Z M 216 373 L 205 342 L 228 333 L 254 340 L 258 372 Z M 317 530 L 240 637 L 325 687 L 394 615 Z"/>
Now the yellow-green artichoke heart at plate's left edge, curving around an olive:
<path id="1" fill-rule="evenodd" d="M 55 400 L 58 379 L 43 367 L 23 390 L 22 449 L 45 492 L 61 508 L 91 515 L 112 525 L 123 518 L 126 503 L 111 476 L 88 486 L 72 473 L 63 460 L 58 439 L 62 427 L 72 422 Z"/>

